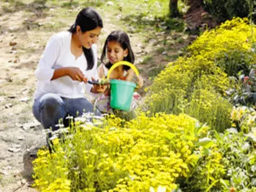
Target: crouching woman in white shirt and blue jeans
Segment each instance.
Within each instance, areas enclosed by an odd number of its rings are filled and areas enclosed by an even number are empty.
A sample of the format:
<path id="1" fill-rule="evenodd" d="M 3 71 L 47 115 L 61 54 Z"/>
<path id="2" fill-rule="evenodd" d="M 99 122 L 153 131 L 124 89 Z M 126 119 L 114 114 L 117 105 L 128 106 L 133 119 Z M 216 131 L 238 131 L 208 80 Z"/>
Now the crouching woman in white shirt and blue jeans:
<path id="1" fill-rule="evenodd" d="M 33 114 L 45 129 L 57 130 L 59 119 L 94 112 L 84 97 L 96 87 L 87 83 L 97 78 L 97 47 L 102 19 L 93 8 L 82 9 L 69 31 L 53 35 L 47 42 L 35 71 L 37 87 Z M 101 115 L 95 111 L 95 115 Z"/>

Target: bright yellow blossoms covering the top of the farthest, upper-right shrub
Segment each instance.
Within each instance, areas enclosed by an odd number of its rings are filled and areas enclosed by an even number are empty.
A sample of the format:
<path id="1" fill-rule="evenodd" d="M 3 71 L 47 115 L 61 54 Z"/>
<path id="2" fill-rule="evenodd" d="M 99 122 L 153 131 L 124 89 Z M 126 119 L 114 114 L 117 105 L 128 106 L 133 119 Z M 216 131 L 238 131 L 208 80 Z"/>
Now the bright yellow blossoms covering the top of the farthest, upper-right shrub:
<path id="1" fill-rule="evenodd" d="M 256 27 L 253 26 L 254 31 Z M 227 20 L 214 30 L 205 31 L 193 44 L 188 47 L 192 55 L 203 55 L 207 60 L 214 61 L 229 51 L 239 50 L 247 53 L 252 48 L 252 42 L 256 40 L 256 33 L 251 34 L 251 26 L 248 19 L 239 17 Z M 252 62 L 256 61 L 256 55 L 251 54 Z"/>

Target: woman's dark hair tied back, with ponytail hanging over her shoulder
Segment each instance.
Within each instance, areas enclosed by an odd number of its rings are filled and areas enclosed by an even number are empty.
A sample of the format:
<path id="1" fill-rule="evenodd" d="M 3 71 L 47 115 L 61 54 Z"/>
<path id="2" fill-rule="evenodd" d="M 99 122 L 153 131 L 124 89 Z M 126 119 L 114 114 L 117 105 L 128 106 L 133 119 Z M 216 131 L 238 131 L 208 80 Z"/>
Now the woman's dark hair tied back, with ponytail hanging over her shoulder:
<path id="1" fill-rule="evenodd" d="M 91 7 L 87 7 L 78 13 L 75 24 L 72 25 L 68 31 L 72 34 L 76 33 L 77 26 L 80 26 L 82 33 L 84 33 L 86 31 L 94 30 L 96 27 L 103 28 L 103 23 L 98 12 Z M 94 66 L 93 50 L 92 48 L 86 49 L 84 47 L 82 47 L 82 49 L 87 60 L 87 70 L 91 70 Z"/>

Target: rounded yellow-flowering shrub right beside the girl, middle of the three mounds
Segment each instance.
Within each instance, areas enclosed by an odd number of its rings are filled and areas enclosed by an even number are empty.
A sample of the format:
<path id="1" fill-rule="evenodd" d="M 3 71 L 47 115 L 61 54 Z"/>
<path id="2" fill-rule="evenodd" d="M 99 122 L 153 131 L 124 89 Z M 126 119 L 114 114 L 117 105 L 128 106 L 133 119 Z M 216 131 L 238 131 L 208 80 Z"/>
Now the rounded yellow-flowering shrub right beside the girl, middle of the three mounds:
<path id="1" fill-rule="evenodd" d="M 227 75 L 214 62 L 202 56 L 179 57 L 155 78 L 145 103 L 152 114 L 185 112 L 221 131 L 230 126 L 231 105 L 221 98 L 228 87 Z"/>

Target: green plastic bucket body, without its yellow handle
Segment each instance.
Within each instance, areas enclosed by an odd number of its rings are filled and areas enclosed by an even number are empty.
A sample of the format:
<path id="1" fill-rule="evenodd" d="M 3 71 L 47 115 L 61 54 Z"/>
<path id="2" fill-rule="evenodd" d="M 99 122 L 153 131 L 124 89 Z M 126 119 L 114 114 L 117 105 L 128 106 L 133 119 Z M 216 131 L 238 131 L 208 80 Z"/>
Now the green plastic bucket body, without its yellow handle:
<path id="1" fill-rule="evenodd" d="M 114 109 L 127 111 L 130 109 L 136 83 L 112 79 L 110 106 Z"/>

